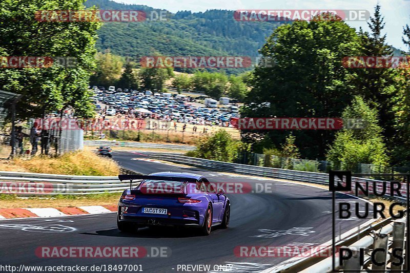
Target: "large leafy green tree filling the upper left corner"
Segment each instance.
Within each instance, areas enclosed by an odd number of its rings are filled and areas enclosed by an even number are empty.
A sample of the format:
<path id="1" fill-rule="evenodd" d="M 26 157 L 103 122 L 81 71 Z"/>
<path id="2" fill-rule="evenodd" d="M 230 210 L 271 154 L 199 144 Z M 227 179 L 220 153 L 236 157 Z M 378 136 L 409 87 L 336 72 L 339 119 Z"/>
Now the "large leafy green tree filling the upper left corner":
<path id="1" fill-rule="evenodd" d="M 0 2 L 1 56 L 44 56 L 70 60 L 53 62 L 47 68 L 0 69 L 0 89 L 22 94 L 17 118 L 40 117 L 43 113 L 72 107 L 78 117 L 94 115 L 88 89 L 95 69 L 95 41 L 100 23 L 38 22 L 39 10 L 85 10 L 82 0 L 3 0 Z M 75 63 L 75 64 L 74 64 Z M 73 65 L 74 64 L 74 65 Z"/>

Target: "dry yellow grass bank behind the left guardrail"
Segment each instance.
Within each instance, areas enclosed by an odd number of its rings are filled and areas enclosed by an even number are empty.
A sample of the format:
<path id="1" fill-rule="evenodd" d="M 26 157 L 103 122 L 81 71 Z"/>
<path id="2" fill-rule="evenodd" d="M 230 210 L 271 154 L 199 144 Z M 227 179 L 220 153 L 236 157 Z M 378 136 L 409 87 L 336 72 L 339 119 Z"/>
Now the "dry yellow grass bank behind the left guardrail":
<path id="1" fill-rule="evenodd" d="M 116 176 L 119 174 L 119 166 L 109 158 L 99 157 L 91 151 L 84 150 L 67 153 L 60 157 L 17 157 L 2 162 L 0 171 Z"/>

